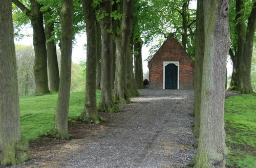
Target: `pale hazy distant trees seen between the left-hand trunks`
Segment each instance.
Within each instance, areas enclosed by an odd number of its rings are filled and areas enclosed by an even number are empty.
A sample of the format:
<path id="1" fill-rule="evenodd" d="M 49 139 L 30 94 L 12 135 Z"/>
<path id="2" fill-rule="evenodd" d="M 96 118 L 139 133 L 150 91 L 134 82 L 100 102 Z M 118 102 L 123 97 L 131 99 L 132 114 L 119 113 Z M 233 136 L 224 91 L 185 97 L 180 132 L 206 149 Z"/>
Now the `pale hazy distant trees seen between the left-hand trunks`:
<path id="1" fill-rule="evenodd" d="M 34 49 L 28 45 L 15 45 L 16 62 L 17 62 L 17 77 L 18 77 L 18 91 L 19 95 L 31 95 L 35 91 L 34 80 Z M 58 65 L 60 65 L 60 53 L 57 52 Z M 73 63 L 71 68 L 71 92 L 81 92 L 85 90 L 86 81 L 86 62 Z M 60 70 L 60 67 L 59 67 Z M 48 75 L 49 83 L 49 75 Z"/>

